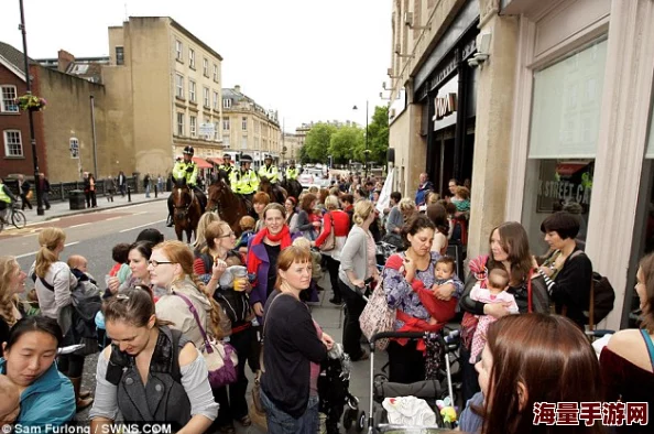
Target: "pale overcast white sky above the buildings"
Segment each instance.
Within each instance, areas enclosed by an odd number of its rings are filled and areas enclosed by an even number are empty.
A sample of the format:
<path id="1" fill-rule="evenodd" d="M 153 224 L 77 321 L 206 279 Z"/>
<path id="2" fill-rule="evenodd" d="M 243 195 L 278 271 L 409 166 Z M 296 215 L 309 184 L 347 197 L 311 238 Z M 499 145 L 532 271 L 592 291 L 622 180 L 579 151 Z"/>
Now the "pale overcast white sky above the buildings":
<path id="1" fill-rule="evenodd" d="M 391 66 L 391 0 L 24 0 L 28 54 L 108 55 L 126 17 L 171 17 L 217 51 L 222 86 L 303 122 L 372 118 Z M 0 41 L 22 51 L 19 0 L 0 0 Z M 388 93 L 384 91 L 384 96 Z M 358 110 L 352 110 L 357 106 Z"/>

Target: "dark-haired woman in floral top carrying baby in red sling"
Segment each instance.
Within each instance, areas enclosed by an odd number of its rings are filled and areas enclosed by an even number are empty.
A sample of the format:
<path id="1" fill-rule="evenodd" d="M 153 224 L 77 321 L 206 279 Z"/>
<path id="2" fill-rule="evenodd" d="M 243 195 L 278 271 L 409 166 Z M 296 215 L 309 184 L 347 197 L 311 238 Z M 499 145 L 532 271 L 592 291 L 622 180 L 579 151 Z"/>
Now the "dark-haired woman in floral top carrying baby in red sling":
<path id="1" fill-rule="evenodd" d="M 454 283 L 436 283 L 435 267 L 440 259 L 432 251 L 434 224 L 416 214 L 402 229 L 406 251 L 393 254 L 384 267 L 383 287 L 389 307 L 396 308 L 395 330 L 436 332 L 455 315 L 457 299 L 464 287 L 456 278 Z M 421 292 L 429 291 L 425 303 Z M 389 380 L 401 383 L 425 379 L 424 343 L 394 339 L 389 344 Z"/>

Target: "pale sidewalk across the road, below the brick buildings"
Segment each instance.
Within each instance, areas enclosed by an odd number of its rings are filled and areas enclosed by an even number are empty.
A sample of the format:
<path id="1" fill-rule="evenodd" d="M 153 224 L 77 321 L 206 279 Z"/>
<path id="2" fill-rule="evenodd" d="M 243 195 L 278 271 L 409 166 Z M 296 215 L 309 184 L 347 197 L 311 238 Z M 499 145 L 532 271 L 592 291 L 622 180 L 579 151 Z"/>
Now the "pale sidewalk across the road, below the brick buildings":
<path id="1" fill-rule="evenodd" d="M 138 205 L 143 204 L 146 202 L 159 202 L 167 199 L 170 193 L 165 192 L 163 195 L 160 194 L 157 198 L 154 197 L 154 193 L 150 193 L 150 197 L 145 197 L 145 193 L 134 193 L 131 195 L 131 200 L 128 202 L 128 196 L 124 197 L 119 195 L 113 196 L 113 202 L 107 202 L 107 197 L 100 196 L 98 197 L 98 207 L 97 208 L 86 208 L 86 209 L 70 209 L 70 205 L 68 200 L 66 202 L 51 202 L 51 208 L 45 209 L 45 215 L 39 216 L 36 215 L 36 200 L 32 200 L 32 209 L 25 208 L 23 213 L 28 218 L 28 225 L 30 224 L 39 224 L 47 220 L 52 220 L 54 218 L 74 216 L 79 214 L 88 214 L 88 213 L 98 213 L 103 211 L 107 209 L 115 209 L 115 208 L 122 208 L 124 206 Z"/>

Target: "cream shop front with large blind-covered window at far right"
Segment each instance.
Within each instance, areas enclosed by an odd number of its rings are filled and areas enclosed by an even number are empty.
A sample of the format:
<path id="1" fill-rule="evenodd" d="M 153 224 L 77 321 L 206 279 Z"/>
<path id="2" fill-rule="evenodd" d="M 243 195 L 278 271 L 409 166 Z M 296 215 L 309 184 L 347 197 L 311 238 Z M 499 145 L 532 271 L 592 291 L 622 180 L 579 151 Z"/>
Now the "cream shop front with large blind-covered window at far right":
<path id="1" fill-rule="evenodd" d="M 542 221 L 579 215 L 578 245 L 615 290 L 603 326 L 633 325 L 637 261 L 654 250 L 652 2 L 501 6 L 520 15 L 506 219 L 542 254 Z"/>

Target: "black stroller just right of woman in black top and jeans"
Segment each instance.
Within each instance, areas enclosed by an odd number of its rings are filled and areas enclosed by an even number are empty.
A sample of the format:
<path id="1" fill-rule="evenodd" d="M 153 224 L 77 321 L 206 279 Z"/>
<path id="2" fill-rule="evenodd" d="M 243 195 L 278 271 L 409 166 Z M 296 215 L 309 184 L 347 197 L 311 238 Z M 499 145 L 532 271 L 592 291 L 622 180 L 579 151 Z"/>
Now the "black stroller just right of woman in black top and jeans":
<path id="1" fill-rule="evenodd" d="M 366 412 L 359 409 L 359 400 L 350 391 L 350 357 L 344 352 L 341 344 L 335 344 L 327 359 L 320 366 L 318 377 L 318 411 L 327 415 L 327 434 L 338 434 L 341 414 L 346 430 L 353 426 L 360 433 L 366 427 Z M 347 409 L 344 414 L 344 406 Z"/>

